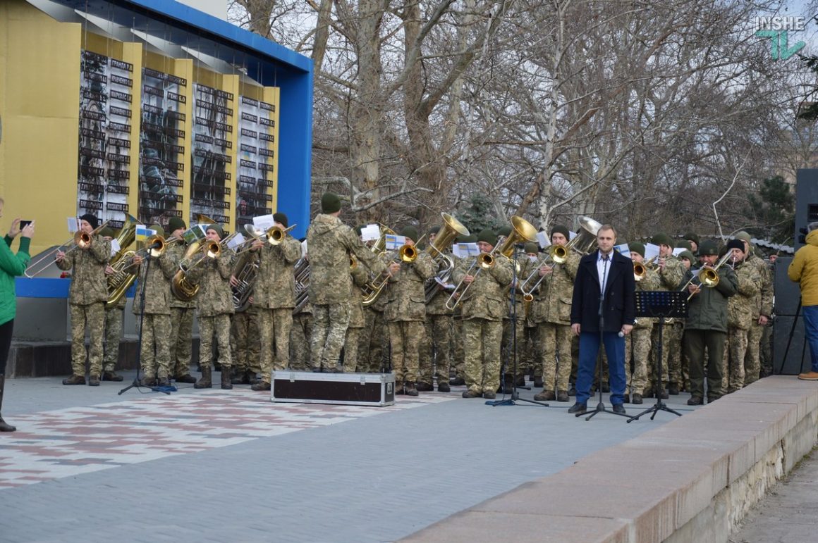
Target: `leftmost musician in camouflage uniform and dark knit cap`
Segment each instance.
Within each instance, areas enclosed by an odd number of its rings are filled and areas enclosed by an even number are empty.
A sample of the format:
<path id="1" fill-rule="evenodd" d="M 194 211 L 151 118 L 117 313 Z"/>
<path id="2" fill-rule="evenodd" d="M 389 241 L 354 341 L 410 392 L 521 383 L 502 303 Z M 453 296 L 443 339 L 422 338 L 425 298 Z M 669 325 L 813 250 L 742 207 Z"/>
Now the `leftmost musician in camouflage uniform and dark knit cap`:
<path id="1" fill-rule="evenodd" d="M 68 304 L 71 312 L 71 371 L 63 385 L 85 385 L 85 329 L 88 327 L 91 343 L 88 349 L 90 373 L 88 385 L 99 386 L 102 374 L 102 336 L 105 333 L 105 305 L 108 301 L 106 265 L 110 260 L 110 242 L 92 234 L 99 226 L 96 216 L 79 217 L 79 228 L 91 235 L 85 247 L 57 251 L 56 266 L 71 273 Z"/>

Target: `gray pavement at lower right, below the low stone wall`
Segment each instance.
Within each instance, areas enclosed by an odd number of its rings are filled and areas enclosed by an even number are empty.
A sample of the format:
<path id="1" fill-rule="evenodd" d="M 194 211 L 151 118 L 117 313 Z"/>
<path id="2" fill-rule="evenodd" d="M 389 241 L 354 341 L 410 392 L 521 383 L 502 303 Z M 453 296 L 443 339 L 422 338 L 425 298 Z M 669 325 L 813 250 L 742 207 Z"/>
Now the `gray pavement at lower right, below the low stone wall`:
<path id="1" fill-rule="evenodd" d="M 816 541 L 818 536 L 818 452 L 804 458 L 747 515 L 732 543 Z"/>

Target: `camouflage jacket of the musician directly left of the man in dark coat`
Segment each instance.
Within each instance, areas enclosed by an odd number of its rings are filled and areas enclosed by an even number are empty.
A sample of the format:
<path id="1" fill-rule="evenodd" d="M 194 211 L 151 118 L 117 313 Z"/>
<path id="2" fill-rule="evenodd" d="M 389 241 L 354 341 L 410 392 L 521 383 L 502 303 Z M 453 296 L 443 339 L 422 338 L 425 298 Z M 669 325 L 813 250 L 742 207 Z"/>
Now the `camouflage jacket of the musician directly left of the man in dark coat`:
<path id="1" fill-rule="evenodd" d="M 571 325 L 571 300 L 573 299 L 573 279 L 577 276 L 579 256 L 569 251 L 564 264 L 554 264 L 551 275 L 544 276 L 534 295 L 532 318 L 535 323 Z M 539 275 L 532 279 L 537 283 Z"/>

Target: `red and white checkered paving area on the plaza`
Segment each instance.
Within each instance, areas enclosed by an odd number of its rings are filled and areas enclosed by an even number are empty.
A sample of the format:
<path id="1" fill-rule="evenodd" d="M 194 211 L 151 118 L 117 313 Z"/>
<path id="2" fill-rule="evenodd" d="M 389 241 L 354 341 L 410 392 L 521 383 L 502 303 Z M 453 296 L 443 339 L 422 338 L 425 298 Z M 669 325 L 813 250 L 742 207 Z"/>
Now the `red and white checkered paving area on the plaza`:
<path id="1" fill-rule="evenodd" d="M 0 438 L 0 490 L 451 399 L 423 394 L 365 407 L 271 403 L 249 390 L 212 390 L 18 415 L 20 430 Z"/>

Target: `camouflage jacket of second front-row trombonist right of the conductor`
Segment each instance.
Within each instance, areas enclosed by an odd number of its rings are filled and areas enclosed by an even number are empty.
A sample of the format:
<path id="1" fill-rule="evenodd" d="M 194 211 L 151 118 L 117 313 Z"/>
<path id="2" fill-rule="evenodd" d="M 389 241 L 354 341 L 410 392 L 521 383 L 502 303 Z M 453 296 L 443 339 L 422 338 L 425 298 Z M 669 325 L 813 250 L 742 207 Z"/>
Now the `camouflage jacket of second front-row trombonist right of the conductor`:
<path id="1" fill-rule="evenodd" d="M 452 276 L 454 283 L 460 283 L 474 264 L 474 258 L 462 259 Z M 508 313 L 506 306 L 506 287 L 511 283 L 511 261 L 505 256 L 497 255 L 490 269 L 474 266 L 469 274 L 477 277 L 471 283 L 468 292 L 458 305 L 461 307 L 461 318 L 485 318 L 490 321 L 501 321 Z M 464 284 L 465 287 L 465 284 Z M 461 287 L 461 292 L 462 292 Z"/>

